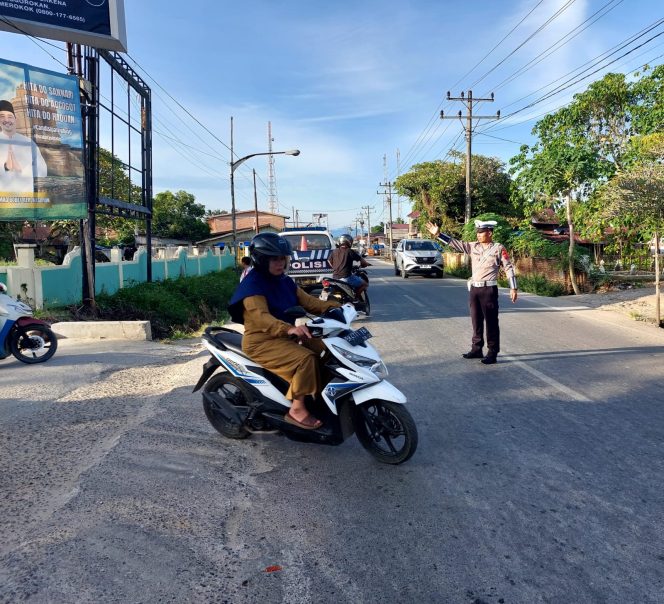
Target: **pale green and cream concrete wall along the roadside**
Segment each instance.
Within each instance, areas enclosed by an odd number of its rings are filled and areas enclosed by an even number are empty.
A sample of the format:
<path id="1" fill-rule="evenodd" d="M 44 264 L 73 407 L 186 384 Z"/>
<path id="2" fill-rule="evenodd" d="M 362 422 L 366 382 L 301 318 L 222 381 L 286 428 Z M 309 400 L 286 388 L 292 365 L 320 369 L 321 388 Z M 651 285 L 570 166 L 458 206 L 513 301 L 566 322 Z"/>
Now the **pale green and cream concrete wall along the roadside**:
<path id="1" fill-rule="evenodd" d="M 18 246 L 18 266 L 0 267 L 0 282 L 14 297 L 27 300 L 35 308 L 80 304 L 83 298 L 81 252 L 69 252 L 62 266 L 35 266 L 33 245 Z M 219 248 L 214 251 L 187 248 L 167 250 L 152 260 L 152 280 L 177 279 L 221 271 L 234 266 L 234 257 Z M 194 252 L 194 250 L 191 250 Z M 120 249 L 111 250 L 111 262 L 95 264 L 95 293 L 113 294 L 132 283 L 147 281 L 147 251 L 139 248 L 133 260 L 122 260 Z"/>

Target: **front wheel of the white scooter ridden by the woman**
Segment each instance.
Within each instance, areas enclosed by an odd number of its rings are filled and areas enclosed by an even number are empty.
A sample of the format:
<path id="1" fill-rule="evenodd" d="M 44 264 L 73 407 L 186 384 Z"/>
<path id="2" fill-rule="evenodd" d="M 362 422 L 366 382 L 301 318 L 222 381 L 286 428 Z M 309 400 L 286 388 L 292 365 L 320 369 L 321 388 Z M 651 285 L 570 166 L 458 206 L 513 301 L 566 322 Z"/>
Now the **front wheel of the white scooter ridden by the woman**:
<path id="1" fill-rule="evenodd" d="M 417 427 L 403 405 L 371 400 L 355 410 L 355 433 L 378 461 L 400 464 L 417 449 Z"/>

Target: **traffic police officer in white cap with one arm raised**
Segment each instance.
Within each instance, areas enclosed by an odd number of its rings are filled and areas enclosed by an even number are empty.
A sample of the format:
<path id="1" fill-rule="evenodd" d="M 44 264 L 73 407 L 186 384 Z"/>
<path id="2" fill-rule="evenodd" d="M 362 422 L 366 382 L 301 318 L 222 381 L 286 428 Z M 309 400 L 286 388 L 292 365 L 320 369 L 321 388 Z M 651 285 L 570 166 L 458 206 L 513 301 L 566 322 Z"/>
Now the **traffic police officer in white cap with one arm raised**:
<path id="1" fill-rule="evenodd" d="M 498 223 L 495 220 L 476 220 L 475 232 L 477 241 L 467 243 L 454 239 L 435 224 L 427 223 L 429 232 L 443 243 L 458 252 L 470 255 L 472 276 L 468 280 L 470 292 L 470 318 L 473 322 L 473 339 L 470 352 L 463 355 L 464 359 L 482 359 L 485 365 L 493 365 L 500 351 L 500 329 L 498 327 L 498 272 L 501 266 L 505 270 L 510 285 L 512 302 L 517 299 L 517 283 L 514 267 L 510 262 L 505 246 L 493 241 L 493 229 Z M 484 323 L 486 323 L 487 354 L 483 355 Z"/>

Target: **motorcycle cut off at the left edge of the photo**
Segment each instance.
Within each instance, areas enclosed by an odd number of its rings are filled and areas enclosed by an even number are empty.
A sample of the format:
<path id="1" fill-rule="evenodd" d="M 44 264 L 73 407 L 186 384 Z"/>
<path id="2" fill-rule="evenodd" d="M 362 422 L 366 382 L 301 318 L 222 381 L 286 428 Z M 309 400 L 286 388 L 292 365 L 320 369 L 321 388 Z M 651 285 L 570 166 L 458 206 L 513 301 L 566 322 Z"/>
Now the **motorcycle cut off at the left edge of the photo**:
<path id="1" fill-rule="evenodd" d="M 7 295 L 0 283 L 0 359 L 13 354 L 22 363 L 43 363 L 58 349 L 50 326 L 32 316 L 32 308 Z"/>

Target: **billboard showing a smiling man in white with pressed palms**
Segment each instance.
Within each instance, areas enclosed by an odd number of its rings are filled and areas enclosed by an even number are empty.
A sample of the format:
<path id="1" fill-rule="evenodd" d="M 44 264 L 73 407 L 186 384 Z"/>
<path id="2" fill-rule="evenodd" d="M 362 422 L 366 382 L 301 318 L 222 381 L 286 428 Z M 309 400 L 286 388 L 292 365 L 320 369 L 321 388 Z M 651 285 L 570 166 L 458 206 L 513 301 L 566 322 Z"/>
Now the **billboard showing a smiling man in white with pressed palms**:
<path id="1" fill-rule="evenodd" d="M 86 216 L 78 78 L 0 60 L 0 220 Z"/>

